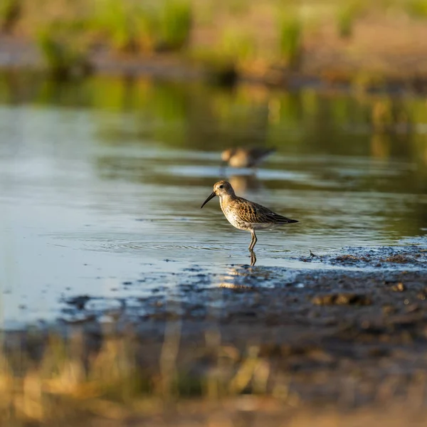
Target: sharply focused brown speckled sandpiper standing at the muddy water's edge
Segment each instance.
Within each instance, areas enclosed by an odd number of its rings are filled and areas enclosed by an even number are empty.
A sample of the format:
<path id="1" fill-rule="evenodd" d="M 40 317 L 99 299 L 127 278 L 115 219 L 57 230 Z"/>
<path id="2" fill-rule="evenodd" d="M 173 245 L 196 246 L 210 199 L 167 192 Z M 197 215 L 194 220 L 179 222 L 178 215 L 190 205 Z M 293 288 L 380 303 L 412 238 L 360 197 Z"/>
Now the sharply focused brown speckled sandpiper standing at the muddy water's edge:
<path id="1" fill-rule="evenodd" d="M 227 181 L 218 181 L 214 184 L 214 191 L 200 206 L 200 209 L 208 203 L 209 200 L 219 197 L 219 204 L 223 214 L 232 226 L 239 230 L 251 231 L 251 244 L 249 251 L 253 251 L 257 238 L 255 230 L 271 229 L 283 224 L 296 223 L 295 219 L 285 218 L 276 214 L 270 209 L 265 208 L 253 201 L 236 196 L 231 184 Z"/>

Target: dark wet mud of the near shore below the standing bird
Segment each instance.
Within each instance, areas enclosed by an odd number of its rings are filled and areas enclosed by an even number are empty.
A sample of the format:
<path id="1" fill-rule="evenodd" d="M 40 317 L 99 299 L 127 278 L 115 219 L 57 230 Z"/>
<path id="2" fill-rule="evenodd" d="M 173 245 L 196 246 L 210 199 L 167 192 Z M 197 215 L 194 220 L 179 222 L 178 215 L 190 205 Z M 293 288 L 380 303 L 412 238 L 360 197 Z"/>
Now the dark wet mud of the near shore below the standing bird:
<path id="1" fill-rule="evenodd" d="M 78 329 L 92 354 L 106 337 L 127 335 L 137 343 L 138 363 L 157 371 L 172 334 L 176 369 L 191 378 L 209 376 L 221 347 L 237 359 L 253 352 L 268 361 L 264 391 L 281 384 L 300 402 L 357 407 L 406 396 L 427 369 L 426 250 L 347 248 L 301 260 L 318 267 L 230 265 L 218 285 L 216 275 L 195 266 L 180 273 L 174 290 L 158 285 L 128 300 L 76 295 L 63 302 L 55 325 L 39 334 L 8 332 L 6 347 L 38 359 L 49 331 Z M 124 284 L 131 285 L 142 283 Z"/>

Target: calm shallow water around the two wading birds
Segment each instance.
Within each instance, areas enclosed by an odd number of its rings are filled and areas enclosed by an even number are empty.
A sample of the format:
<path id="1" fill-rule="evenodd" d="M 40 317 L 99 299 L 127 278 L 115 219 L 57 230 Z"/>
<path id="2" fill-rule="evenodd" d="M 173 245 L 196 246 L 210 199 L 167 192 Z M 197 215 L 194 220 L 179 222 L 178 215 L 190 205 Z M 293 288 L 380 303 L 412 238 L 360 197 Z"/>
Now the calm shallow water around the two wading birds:
<path id="1" fill-rule="evenodd" d="M 3 325 L 54 320 L 74 295 L 173 289 L 188 268 L 219 285 L 251 240 L 217 200 L 199 209 L 224 177 L 300 221 L 258 234 L 257 267 L 425 241 L 426 129 L 416 98 L 1 75 Z M 278 152 L 256 175 L 221 172 L 221 150 L 243 144 Z"/>

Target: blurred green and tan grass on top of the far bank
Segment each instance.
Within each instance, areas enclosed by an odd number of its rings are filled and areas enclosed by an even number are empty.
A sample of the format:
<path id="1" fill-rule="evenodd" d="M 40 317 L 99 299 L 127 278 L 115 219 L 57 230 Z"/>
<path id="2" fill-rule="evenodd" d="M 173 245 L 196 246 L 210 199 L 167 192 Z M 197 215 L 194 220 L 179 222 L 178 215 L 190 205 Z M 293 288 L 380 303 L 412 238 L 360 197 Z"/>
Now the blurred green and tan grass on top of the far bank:
<path id="1" fill-rule="evenodd" d="M 81 63 L 103 46 L 134 56 L 181 53 L 232 77 L 242 64 L 256 75 L 275 64 L 297 69 L 319 26 L 336 26 L 339 36 L 352 38 L 362 12 L 389 9 L 426 17 L 427 1 L 4 0 L 0 26 L 33 38 L 54 74 L 65 67 L 82 74 Z"/>

